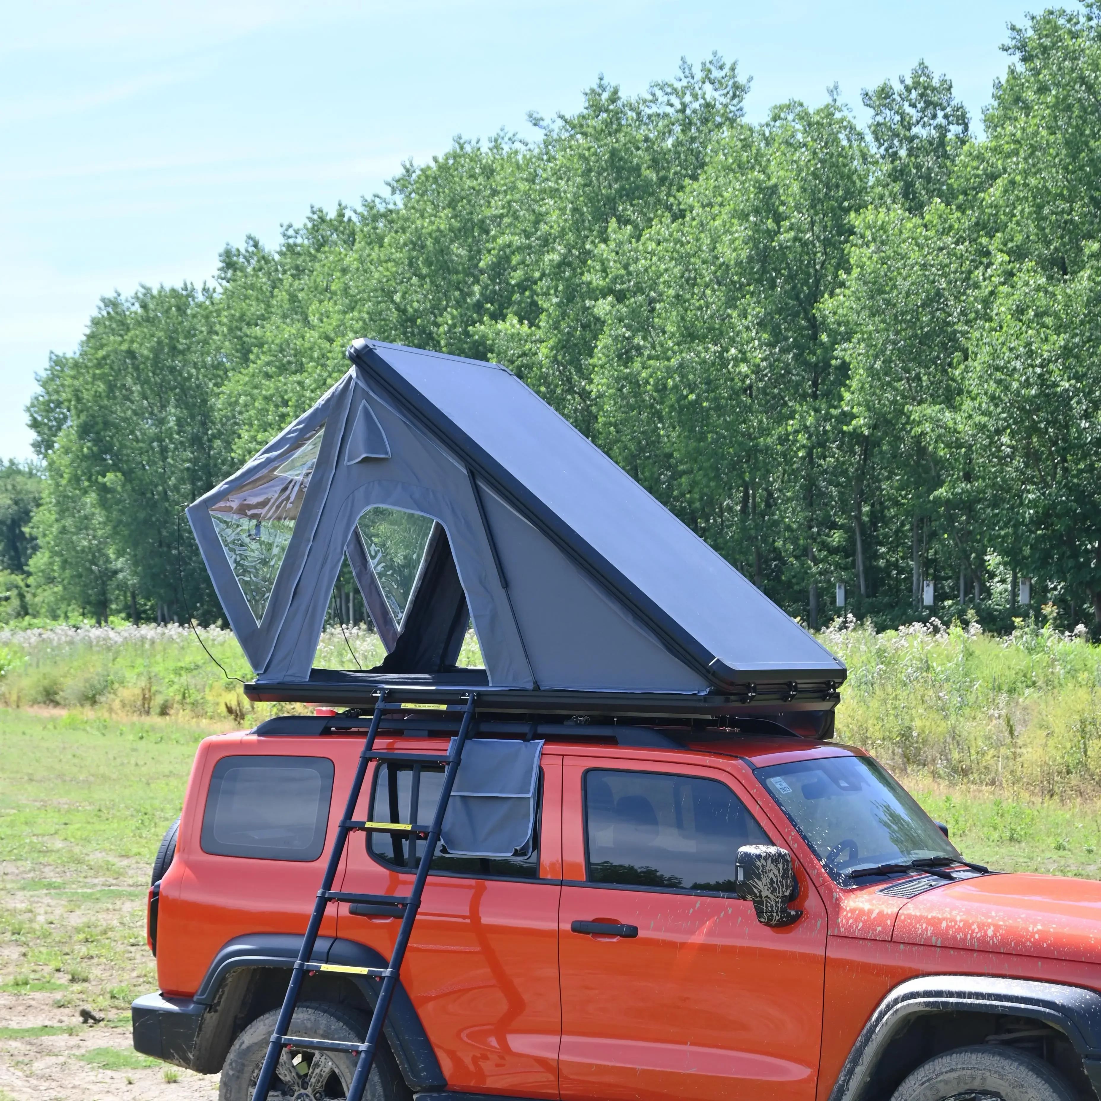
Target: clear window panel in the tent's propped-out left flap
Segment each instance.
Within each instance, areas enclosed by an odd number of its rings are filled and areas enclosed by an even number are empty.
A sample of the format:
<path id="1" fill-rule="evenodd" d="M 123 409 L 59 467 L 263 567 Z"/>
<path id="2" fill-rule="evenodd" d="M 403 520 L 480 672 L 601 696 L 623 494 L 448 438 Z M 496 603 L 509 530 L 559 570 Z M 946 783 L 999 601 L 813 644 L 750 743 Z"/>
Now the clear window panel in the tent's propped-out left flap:
<path id="1" fill-rule="evenodd" d="M 227 493 L 210 509 L 237 584 L 259 623 L 294 534 L 325 435 L 323 424 L 290 455 Z"/>

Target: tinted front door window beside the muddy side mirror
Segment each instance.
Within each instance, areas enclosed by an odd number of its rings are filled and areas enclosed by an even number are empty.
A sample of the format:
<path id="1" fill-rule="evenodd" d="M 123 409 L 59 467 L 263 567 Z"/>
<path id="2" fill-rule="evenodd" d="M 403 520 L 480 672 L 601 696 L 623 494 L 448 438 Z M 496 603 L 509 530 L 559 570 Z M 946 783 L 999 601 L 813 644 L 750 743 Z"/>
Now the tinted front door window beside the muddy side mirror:
<path id="1" fill-rule="evenodd" d="M 745 805 L 715 780 L 653 772 L 585 774 L 592 883 L 734 892 L 734 853 L 768 844 Z"/>

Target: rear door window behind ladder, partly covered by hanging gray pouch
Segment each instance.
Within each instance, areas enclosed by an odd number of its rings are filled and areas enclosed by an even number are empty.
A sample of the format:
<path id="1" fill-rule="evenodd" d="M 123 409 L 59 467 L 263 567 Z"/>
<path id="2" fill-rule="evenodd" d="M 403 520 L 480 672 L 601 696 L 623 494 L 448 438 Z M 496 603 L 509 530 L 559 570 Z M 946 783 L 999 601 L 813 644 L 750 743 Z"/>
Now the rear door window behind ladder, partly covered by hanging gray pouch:
<path id="1" fill-rule="evenodd" d="M 375 770 L 371 788 L 371 821 L 430 824 L 443 784 L 443 766 L 381 763 Z M 432 871 L 481 879 L 538 879 L 542 796 L 541 772 L 535 829 L 523 849 L 517 849 L 511 857 L 455 857 L 440 846 L 432 859 Z M 424 846 L 423 840 L 410 839 L 405 833 L 367 835 L 367 851 L 390 868 L 415 869 L 424 853 Z"/>

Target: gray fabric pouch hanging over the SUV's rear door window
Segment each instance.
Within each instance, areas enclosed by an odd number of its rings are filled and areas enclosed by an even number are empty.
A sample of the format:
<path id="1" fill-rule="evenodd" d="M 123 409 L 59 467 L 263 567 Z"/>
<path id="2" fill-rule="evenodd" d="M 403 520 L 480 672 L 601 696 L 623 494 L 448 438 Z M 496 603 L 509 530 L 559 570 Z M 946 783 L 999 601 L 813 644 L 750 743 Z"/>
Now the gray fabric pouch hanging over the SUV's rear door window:
<path id="1" fill-rule="evenodd" d="M 542 754 L 541 741 L 472 738 L 466 743 L 440 831 L 449 853 L 511 857 L 530 847 Z"/>

